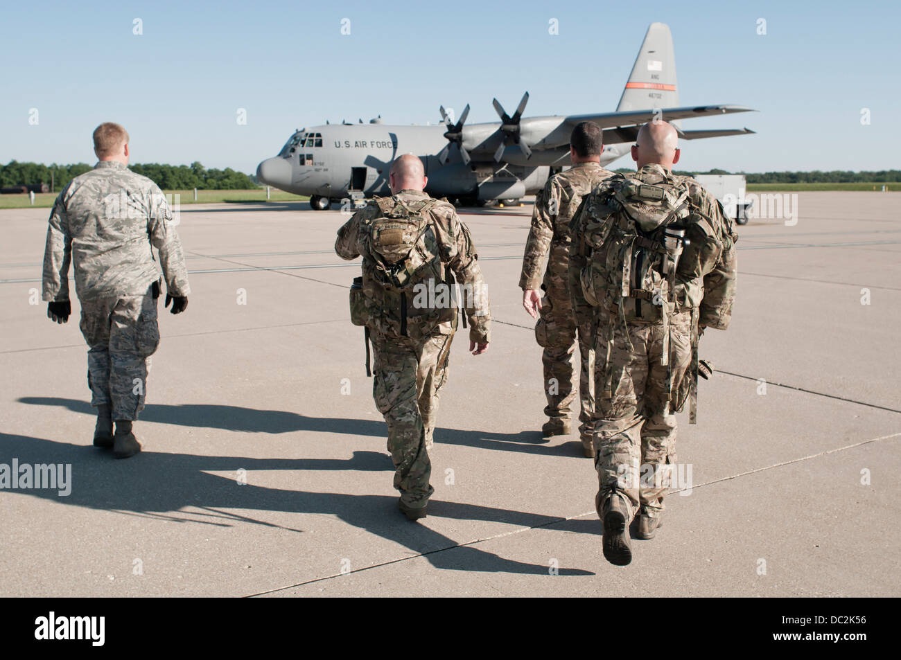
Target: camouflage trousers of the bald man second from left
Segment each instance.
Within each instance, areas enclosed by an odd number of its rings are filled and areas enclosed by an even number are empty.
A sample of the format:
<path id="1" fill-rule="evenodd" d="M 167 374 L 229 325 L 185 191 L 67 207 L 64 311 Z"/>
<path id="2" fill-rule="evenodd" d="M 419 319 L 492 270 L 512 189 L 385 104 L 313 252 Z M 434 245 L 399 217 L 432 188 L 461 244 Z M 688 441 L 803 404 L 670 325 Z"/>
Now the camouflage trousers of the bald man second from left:
<path id="1" fill-rule="evenodd" d="M 374 353 L 372 391 L 388 427 L 394 486 L 406 505 L 421 507 L 434 493 L 429 484 L 429 449 L 453 335 L 407 339 L 373 332 L 370 337 Z"/>

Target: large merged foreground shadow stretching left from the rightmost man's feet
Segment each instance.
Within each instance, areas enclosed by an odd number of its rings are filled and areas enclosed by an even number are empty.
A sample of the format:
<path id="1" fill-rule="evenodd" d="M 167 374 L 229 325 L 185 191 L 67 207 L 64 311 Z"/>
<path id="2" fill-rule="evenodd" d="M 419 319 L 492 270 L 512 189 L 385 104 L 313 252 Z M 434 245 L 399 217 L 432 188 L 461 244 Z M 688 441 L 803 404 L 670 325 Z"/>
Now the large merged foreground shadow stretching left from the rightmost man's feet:
<path id="1" fill-rule="evenodd" d="M 43 438 L 0 433 L 0 463 L 10 465 L 70 464 L 71 493 L 57 490 L 10 490 L 0 493 L 30 495 L 44 500 L 102 511 L 150 517 L 171 522 L 195 522 L 232 527 L 240 522 L 259 524 L 303 534 L 266 520 L 255 520 L 237 511 L 280 511 L 336 516 L 371 534 L 394 541 L 417 555 L 424 555 L 436 568 L 516 574 L 548 574 L 548 566 L 505 559 L 476 547 L 458 543 L 429 529 L 427 524 L 405 520 L 397 511 L 396 496 L 315 493 L 282 490 L 255 484 L 239 484 L 237 470 L 393 470 L 387 455 L 358 451 L 347 460 L 314 458 L 208 457 L 192 454 L 141 452 L 118 461 L 108 450 Z M 235 475 L 211 475 L 228 471 Z M 189 508 L 189 509 L 187 509 Z M 187 509 L 187 510 L 186 510 Z M 487 520 L 523 527 L 548 527 L 564 521 L 553 516 L 507 511 L 459 502 L 432 501 L 430 516 L 458 520 Z M 578 521 L 569 520 L 567 525 Z M 597 526 L 584 521 L 578 531 L 597 533 Z M 298 540 L 303 552 L 305 541 Z M 441 550 L 453 548 L 452 552 Z M 581 569 L 560 568 L 561 575 L 592 574 Z"/>

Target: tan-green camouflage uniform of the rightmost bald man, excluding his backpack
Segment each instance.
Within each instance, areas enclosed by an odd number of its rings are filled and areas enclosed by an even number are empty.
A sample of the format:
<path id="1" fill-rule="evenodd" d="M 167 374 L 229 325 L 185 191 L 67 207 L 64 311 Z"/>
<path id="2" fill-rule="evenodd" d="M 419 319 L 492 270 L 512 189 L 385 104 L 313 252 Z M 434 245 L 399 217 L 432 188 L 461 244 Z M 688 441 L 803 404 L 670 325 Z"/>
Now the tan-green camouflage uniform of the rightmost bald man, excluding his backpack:
<path id="1" fill-rule="evenodd" d="M 595 466 L 599 484 L 596 508 L 602 519 L 614 486 L 629 499 L 633 516 L 640 511 L 655 518 L 663 510 L 669 466 L 676 462 L 674 412 L 685 404 L 691 385 L 693 309 L 701 327 L 725 330 L 735 296 L 734 243 L 738 236 L 713 195 L 694 179 L 672 175 L 659 165 L 642 167 L 633 178 L 648 184 L 669 181 L 686 185 L 691 191 L 691 211 L 707 220 L 710 244 L 714 247 L 702 250 L 705 235 L 700 233 L 700 225 L 689 223 L 687 238 L 693 248 L 683 253 L 677 271 L 676 309 L 669 316 L 669 366 L 660 364 L 665 335 L 662 322 L 626 323 L 598 310 L 602 321 L 595 350 L 599 362 L 600 356 L 606 356 L 606 367 L 596 372 L 595 384 Z M 573 219 L 574 240 L 583 231 L 585 209 L 590 203 L 589 197 Z M 583 265 L 576 259 L 571 262 L 570 282 L 578 283 Z M 574 285 L 573 291 L 578 288 Z"/>

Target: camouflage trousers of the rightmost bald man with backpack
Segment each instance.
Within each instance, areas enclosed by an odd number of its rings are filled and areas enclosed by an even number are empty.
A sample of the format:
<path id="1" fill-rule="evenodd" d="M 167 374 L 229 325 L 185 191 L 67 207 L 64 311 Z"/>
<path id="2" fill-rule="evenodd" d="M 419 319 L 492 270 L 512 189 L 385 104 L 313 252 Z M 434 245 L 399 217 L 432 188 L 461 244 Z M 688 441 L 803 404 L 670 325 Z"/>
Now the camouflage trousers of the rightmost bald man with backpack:
<path id="1" fill-rule="evenodd" d="M 676 415 L 667 394 L 667 378 L 671 367 L 671 398 L 676 399 L 676 393 L 685 391 L 691 365 L 690 319 L 683 314 L 674 321 L 669 326 L 669 366 L 660 364 L 661 323 L 629 324 L 627 333 L 623 322 L 614 319 L 597 331 L 599 363 L 609 346 L 608 362 L 596 380 L 596 507 L 602 517 L 614 487 L 629 499 L 632 515 L 639 508 L 652 517 L 663 511 L 663 496 L 676 462 Z"/>

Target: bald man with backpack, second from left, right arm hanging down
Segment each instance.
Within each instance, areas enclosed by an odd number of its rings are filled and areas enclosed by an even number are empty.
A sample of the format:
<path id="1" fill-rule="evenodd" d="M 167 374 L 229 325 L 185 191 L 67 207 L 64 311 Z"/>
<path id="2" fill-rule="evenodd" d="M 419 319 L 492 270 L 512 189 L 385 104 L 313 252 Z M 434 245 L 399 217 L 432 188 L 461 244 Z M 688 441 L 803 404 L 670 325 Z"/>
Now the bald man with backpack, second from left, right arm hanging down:
<path id="1" fill-rule="evenodd" d="M 425 517 L 434 493 L 428 451 L 457 329 L 454 276 L 473 355 L 487 350 L 490 330 L 469 229 L 450 203 L 423 192 L 426 181 L 419 158 L 397 158 L 388 178 L 393 196 L 356 212 L 335 241 L 341 258 L 363 257 L 362 278 L 350 291 L 351 321 L 365 325 L 372 341 L 373 396 L 387 422 L 398 506 L 409 520 Z"/>

